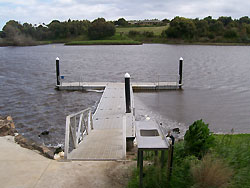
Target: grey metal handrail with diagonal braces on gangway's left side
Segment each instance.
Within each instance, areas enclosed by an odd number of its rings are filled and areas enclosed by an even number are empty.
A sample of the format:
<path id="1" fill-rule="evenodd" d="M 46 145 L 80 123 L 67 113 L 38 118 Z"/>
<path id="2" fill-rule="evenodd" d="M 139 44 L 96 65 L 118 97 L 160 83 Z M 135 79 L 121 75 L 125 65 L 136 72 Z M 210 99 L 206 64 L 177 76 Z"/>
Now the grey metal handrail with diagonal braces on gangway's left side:
<path id="1" fill-rule="evenodd" d="M 66 117 L 64 155 L 67 159 L 69 154 L 70 141 L 73 142 L 73 149 L 76 149 L 84 136 L 93 129 L 92 111 L 90 108 L 70 114 Z"/>

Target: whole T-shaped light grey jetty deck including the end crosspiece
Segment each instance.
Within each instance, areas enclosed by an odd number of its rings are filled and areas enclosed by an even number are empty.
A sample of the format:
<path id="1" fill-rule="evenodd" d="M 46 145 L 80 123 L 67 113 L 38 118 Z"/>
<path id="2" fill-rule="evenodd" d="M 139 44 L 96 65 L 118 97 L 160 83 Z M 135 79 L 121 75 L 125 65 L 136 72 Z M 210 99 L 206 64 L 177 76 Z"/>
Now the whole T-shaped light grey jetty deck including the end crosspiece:
<path id="1" fill-rule="evenodd" d="M 179 89 L 177 82 L 136 82 L 133 90 Z M 68 154 L 70 160 L 123 160 L 126 158 L 126 138 L 135 138 L 135 117 L 125 113 L 125 85 L 114 82 L 62 82 L 59 90 L 104 90 L 93 115 L 94 129 Z M 131 89 L 132 90 L 132 89 Z M 131 91 L 131 101 L 133 101 Z"/>

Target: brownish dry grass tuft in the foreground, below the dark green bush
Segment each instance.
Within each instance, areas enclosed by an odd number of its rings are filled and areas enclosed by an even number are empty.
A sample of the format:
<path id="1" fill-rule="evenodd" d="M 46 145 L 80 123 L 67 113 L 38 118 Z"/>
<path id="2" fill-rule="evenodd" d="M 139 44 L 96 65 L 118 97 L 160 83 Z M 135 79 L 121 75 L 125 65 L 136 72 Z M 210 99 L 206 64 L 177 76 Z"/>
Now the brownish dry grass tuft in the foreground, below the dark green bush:
<path id="1" fill-rule="evenodd" d="M 220 159 L 206 155 L 197 163 L 191 165 L 194 187 L 219 188 L 226 187 L 232 176 L 232 170 Z"/>

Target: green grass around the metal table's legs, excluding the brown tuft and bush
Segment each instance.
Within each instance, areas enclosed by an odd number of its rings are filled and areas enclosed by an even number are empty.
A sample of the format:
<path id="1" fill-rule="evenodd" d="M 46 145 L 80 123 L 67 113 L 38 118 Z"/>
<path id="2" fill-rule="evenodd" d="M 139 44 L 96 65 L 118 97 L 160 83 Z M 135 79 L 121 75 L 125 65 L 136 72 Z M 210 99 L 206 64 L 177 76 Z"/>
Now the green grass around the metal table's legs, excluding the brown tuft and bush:
<path id="1" fill-rule="evenodd" d="M 222 161 L 223 165 L 232 170 L 232 177 L 230 178 L 231 181 L 229 182 L 228 187 L 249 188 L 250 134 L 215 135 L 215 142 L 216 144 L 212 147 L 209 153 L 213 156 L 215 161 Z M 167 154 L 165 156 L 167 156 Z M 149 152 L 148 154 L 145 154 L 145 160 L 153 162 L 154 159 L 152 153 Z M 160 156 L 158 160 L 160 160 Z M 194 156 L 185 155 L 184 142 L 177 142 L 174 150 L 173 173 L 171 180 L 169 182 L 166 180 L 166 168 L 161 169 L 159 166 L 144 165 L 144 187 L 197 187 L 197 184 L 195 185 L 195 178 L 192 177 L 191 173 L 191 167 L 193 167 L 194 164 L 201 164 L 201 161 Z M 216 168 L 216 166 L 211 168 Z M 209 168 L 206 170 L 209 170 Z M 223 174 L 221 177 L 215 176 L 215 178 L 222 179 Z M 127 187 L 135 188 L 138 186 L 139 174 L 138 170 L 135 169 Z"/>

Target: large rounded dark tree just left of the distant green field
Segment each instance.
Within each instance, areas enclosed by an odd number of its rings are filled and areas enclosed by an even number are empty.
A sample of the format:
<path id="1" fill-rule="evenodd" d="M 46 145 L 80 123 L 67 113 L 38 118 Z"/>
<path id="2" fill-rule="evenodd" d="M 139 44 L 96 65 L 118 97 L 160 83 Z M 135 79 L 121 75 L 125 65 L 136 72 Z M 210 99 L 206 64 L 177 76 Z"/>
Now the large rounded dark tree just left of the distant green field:
<path id="1" fill-rule="evenodd" d="M 88 29 L 88 36 L 90 39 L 102 39 L 113 36 L 114 34 L 114 24 L 111 22 L 106 22 L 104 18 L 98 18 L 94 20 Z"/>

